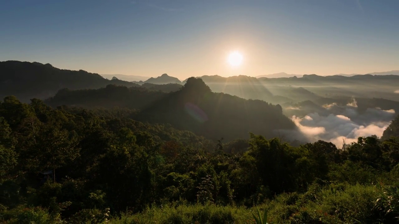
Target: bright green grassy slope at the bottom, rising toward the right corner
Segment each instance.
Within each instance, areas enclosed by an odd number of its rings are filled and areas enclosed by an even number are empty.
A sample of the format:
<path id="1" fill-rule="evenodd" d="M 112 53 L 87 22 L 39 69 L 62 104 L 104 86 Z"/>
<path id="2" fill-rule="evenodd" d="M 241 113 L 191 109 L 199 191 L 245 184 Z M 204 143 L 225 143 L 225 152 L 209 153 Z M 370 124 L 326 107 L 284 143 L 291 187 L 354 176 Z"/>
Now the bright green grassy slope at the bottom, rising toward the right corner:
<path id="1" fill-rule="evenodd" d="M 379 223 L 394 219 L 397 211 L 383 211 L 380 206 L 395 193 L 373 185 L 313 185 L 304 194 L 289 193 L 259 205 L 268 211 L 268 223 Z M 384 199 L 385 198 L 385 199 Z M 396 197 L 397 198 L 397 197 Z M 109 220 L 112 224 L 150 223 L 256 223 L 256 207 L 219 206 L 215 204 L 168 203 L 136 214 L 123 214 Z M 391 214 L 389 214 L 391 212 Z"/>

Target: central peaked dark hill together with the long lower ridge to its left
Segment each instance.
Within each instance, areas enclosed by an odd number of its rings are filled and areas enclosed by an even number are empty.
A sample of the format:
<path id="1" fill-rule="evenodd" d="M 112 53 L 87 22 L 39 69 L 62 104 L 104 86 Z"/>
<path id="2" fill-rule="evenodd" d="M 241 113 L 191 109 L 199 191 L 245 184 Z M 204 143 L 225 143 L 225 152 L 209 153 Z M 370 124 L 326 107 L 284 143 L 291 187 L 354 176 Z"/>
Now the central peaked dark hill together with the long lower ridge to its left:
<path id="1" fill-rule="evenodd" d="M 273 137 L 278 136 L 277 130 L 295 128 L 280 105 L 214 93 L 196 78 L 170 93 L 109 85 L 96 90 L 60 90 L 45 102 L 53 107 L 138 109 L 136 120 L 171 124 L 213 140 L 247 138 L 249 132 Z"/>

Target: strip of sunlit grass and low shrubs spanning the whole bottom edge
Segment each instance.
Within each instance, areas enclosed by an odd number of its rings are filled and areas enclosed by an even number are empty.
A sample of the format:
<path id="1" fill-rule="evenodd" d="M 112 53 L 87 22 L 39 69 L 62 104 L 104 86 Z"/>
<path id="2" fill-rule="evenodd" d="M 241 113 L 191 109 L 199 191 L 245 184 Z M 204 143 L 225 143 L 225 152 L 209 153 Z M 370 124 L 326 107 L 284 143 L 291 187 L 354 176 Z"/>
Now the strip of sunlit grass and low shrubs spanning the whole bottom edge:
<path id="1" fill-rule="evenodd" d="M 302 194 L 282 193 L 259 205 L 267 223 L 397 223 L 399 191 L 391 185 L 313 184 Z M 185 200 L 148 206 L 135 214 L 109 214 L 107 209 L 79 212 L 68 220 L 40 207 L 3 211 L 8 223 L 230 224 L 257 223 L 257 208 L 189 204 Z M 14 217 L 14 218 L 12 218 Z"/>

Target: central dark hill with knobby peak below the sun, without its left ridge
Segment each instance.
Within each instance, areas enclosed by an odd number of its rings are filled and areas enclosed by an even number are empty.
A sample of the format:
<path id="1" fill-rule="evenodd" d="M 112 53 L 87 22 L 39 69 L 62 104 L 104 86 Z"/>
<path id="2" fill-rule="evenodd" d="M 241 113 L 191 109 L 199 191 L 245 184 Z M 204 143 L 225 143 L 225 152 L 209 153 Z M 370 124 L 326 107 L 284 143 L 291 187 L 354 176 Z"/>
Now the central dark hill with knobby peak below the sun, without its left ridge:
<path id="1" fill-rule="evenodd" d="M 227 140 L 246 138 L 249 132 L 272 137 L 277 136 L 276 130 L 295 128 L 280 105 L 214 93 L 194 77 L 181 90 L 142 110 L 138 120 L 169 123 L 207 138 Z"/>

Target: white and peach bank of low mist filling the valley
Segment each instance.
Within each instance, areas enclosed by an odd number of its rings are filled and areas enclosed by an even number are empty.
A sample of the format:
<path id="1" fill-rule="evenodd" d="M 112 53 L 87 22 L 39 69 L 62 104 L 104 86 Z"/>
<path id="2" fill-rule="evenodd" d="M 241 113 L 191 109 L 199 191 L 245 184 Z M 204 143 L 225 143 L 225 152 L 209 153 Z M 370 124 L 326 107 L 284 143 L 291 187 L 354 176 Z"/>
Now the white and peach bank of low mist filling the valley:
<path id="1" fill-rule="evenodd" d="M 332 103 L 323 107 L 325 108 L 323 112 L 292 116 L 292 121 L 302 134 L 294 136 L 307 138 L 298 140 L 310 142 L 324 140 L 342 147 L 344 141 L 346 144 L 355 142 L 361 136 L 375 135 L 380 138 L 395 117 L 393 109 L 367 108 L 359 112 L 355 99 L 345 106 Z"/>

